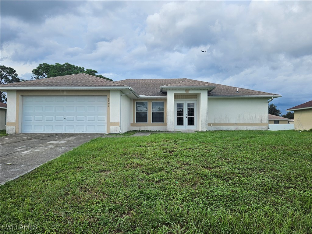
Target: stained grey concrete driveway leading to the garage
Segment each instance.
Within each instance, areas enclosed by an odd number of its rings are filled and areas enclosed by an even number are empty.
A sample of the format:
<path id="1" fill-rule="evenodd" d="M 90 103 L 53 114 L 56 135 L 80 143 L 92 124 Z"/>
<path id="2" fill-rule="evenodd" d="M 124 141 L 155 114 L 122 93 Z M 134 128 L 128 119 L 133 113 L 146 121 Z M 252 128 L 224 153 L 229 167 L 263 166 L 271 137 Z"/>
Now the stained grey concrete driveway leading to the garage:
<path id="1" fill-rule="evenodd" d="M 32 171 L 71 149 L 101 137 L 97 133 L 24 133 L 0 139 L 0 184 Z"/>

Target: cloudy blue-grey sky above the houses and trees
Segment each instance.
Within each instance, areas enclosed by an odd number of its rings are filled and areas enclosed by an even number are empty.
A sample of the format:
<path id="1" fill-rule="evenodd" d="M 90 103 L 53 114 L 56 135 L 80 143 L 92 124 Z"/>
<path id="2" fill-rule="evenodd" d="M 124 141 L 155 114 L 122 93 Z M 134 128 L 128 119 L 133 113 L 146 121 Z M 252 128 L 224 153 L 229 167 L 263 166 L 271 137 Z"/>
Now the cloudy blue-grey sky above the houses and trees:
<path id="1" fill-rule="evenodd" d="M 311 1 L 3 1 L 1 65 L 189 78 L 312 100 Z M 201 50 L 206 50 L 202 53 Z"/>

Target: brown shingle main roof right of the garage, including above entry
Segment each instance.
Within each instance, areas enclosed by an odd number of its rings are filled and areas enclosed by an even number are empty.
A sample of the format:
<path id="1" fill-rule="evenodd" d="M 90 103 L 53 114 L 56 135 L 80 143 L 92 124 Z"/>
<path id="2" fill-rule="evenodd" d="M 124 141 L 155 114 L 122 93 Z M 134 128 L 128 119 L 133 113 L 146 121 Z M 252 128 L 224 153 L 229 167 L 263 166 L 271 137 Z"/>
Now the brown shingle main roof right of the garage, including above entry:
<path id="1" fill-rule="evenodd" d="M 266 93 L 250 89 L 238 88 L 238 93 L 236 93 L 237 87 L 219 85 L 210 82 L 204 82 L 199 80 L 190 79 L 127 79 L 119 80 L 118 83 L 129 85 L 132 87 L 139 95 L 145 96 L 167 96 L 166 93 L 161 93 L 160 86 L 217 86 L 211 92 L 208 92 L 208 96 L 275 96 L 278 94 Z"/>

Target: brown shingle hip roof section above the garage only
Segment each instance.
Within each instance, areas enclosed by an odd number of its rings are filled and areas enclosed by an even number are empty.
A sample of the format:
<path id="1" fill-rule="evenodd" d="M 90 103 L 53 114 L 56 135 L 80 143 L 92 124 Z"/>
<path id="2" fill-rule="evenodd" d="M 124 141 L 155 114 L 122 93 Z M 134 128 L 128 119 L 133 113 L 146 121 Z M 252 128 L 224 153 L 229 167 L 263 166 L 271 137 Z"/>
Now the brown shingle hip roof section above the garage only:
<path id="1" fill-rule="evenodd" d="M 124 86 L 114 81 L 105 80 L 97 76 L 91 76 L 85 73 L 79 73 L 67 76 L 56 76 L 39 80 L 27 80 L 16 83 L 1 85 L 5 87 L 96 87 L 96 86 Z"/>

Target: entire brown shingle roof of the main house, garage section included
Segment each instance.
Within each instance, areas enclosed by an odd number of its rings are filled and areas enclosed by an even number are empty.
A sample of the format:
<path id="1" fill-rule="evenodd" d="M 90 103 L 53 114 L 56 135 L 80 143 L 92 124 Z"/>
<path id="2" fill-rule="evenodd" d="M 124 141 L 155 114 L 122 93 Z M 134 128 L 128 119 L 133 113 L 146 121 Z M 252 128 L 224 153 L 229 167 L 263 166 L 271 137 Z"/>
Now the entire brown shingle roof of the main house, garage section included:
<path id="1" fill-rule="evenodd" d="M 161 86 L 216 86 L 208 92 L 208 96 L 275 96 L 278 94 L 266 93 L 256 90 L 219 85 L 199 80 L 190 79 L 127 79 L 118 82 L 105 80 L 85 73 L 57 76 L 40 80 L 27 80 L 22 82 L 1 85 L 1 88 L 22 87 L 126 87 L 130 86 L 138 95 L 166 97 L 167 93 L 160 92 Z"/>

